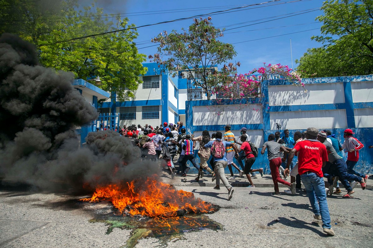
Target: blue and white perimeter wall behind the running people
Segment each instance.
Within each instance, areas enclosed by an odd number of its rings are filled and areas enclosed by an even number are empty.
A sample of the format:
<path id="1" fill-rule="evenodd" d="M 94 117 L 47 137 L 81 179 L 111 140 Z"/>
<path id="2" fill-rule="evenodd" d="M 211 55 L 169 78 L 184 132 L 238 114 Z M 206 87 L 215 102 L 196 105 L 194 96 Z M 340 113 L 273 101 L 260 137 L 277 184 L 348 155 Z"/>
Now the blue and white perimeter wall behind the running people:
<path id="1" fill-rule="evenodd" d="M 341 142 L 343 131 L 351 128 L 365 146 L 356 169 L 372 173 L 373 149 L 368 146 L 373 145 L 373 76 L 305 78 L 303 83 L 307 92 L 284 80 L 264 81 L 264 97 L 250 103 L 236 100 L 213 106 L 213 100 L 188 101 L 187 132 L 200 135 L 207 129 L 213 133 L 229 124 L 238 139 L 239 130 L 246 127 L 261 149 L 268 135 L 277 131 L 276 123 L 281 125 L 280 132 L 289 129 L 291 135 L 308 127 L 330 129 Z M 219 111 L 221 115 L 217 115 Z M 266 153 L 259 155 L 253 166 L 260 167 L 269 171 Z"/>

